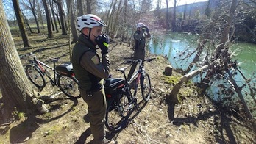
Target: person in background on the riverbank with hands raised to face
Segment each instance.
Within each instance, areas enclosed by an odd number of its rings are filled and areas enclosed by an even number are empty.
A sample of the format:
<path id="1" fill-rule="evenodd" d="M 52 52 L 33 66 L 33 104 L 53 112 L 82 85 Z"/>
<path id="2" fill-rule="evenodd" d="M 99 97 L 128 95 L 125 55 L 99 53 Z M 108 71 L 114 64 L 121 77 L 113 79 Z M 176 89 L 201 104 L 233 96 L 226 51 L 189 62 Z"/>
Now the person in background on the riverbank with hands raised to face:
<path id="1" fill-rule="evenodd" d="M 149 33 L 149 28 L 143 24 L 143 23 L 138 23 L 136 24 L 136 32 L 133 35 L 134 37 L 134 60 L 144 60 L 145 59 L 145 46 L 146 46 L 146 37 L 149 38 L 151 37 Z M 137 63 L 132 64 L 132 68 L 130 69 L 127 79 L 128 81 L 131 79 L 132 74 L 135 71 L 135 68 L 137 66 Z"/>

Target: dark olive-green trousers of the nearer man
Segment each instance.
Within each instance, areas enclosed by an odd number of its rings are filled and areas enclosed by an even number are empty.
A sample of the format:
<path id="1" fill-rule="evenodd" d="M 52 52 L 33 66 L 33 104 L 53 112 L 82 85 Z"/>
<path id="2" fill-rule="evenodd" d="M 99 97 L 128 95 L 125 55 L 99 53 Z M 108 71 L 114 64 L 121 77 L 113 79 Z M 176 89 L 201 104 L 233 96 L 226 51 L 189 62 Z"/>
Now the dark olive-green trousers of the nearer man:
<path id="1" fill-rule="evenodd" d="M 88 115 L 90 116 L 90 129 L 94 137 L 94 143 L 102 143 L 106 136 L 104 123 L 107 109 L 106 96 L 104 88 L 93 92 L 88 96 L 85 90 L 80 90 L 81 96 L 88 104 Z"/>

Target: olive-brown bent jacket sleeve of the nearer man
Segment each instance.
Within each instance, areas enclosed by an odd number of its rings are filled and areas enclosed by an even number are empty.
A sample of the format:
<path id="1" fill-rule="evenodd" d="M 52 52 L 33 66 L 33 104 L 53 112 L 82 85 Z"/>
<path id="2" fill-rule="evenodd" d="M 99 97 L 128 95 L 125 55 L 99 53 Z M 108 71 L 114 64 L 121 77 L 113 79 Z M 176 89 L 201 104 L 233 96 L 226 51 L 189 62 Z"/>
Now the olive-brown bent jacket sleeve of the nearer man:
<path id="1" fill-rule="evenodd" d="M 80 65 L 89 73 L 102 79 L 107 79 L 110 74 L 110 60 L 108 54 L 103 54 L 102 62 L 100 62 L 97 54 L 88 51 L 82 56 Z"/>

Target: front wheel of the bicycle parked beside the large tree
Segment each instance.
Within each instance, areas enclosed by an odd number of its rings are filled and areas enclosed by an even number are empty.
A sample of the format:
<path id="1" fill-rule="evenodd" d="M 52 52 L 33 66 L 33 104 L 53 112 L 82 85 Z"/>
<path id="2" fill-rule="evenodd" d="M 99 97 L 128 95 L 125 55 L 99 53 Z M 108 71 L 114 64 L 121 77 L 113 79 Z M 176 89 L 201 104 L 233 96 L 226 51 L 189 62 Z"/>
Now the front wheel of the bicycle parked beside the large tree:
<path id="1" fill-rule="evenodd" d="M 35 84 L 38 89 L 42 90 L 43 87 L 46 87 L 46 79 L 44 79 L 43 73 L 41 73 L 37 67 L 34 65 L 26 65 L 25 73 L 29 80 Z"/>

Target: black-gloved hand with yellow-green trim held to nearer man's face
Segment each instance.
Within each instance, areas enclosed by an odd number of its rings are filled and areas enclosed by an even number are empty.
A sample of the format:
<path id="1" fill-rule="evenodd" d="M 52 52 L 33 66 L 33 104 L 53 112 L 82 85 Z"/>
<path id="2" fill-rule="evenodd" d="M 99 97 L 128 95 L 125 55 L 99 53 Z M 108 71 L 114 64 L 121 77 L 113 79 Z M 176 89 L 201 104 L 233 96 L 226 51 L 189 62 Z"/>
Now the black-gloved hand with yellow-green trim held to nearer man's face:
<path id="1" fill-rule="evenodd" d="M 109 43 L 109 39 L 107 37 L 107 35 L 99 35 L 95 42 L 97 43 L 97 45 L 99 46 L 99 48 L 101 48 L 102 50 L 102 54 L 107 54 L 108 53 L 108 43 Z"/>

